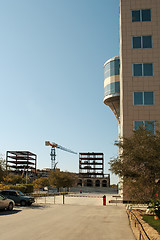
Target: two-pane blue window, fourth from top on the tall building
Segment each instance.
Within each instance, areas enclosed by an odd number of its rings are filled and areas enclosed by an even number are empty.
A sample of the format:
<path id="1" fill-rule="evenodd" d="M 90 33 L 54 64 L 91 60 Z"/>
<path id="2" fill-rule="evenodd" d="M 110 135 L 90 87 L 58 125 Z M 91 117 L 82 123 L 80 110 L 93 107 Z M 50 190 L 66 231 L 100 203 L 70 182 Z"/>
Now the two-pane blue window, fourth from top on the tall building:
<path id="1" fill-rule="evenodd" d="M 153 105 L 154 92 L 134 92 L 133 103 L 134 105 Z"/>

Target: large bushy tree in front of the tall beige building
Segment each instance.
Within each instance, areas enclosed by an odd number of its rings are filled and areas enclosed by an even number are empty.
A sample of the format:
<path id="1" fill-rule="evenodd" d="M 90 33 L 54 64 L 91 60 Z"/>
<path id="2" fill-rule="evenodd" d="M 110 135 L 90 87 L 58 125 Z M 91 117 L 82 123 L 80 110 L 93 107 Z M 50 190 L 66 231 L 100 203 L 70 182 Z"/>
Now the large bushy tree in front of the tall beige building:
<path id="1" fill-rule="evenodd" d="M 110 170 L 124 179 L 130 200 L 149 201 L 160 193 L 160 132 L 151 134 L 144 127 L 129 138 L 115 142 L 119 156 L 112 159 Z"/>

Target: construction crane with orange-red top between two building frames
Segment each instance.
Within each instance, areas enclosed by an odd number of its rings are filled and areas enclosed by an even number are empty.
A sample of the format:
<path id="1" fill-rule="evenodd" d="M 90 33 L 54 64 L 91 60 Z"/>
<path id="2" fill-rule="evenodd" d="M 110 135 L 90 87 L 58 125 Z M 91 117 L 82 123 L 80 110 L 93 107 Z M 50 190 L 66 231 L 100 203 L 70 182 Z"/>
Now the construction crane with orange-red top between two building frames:
<path id="1" fill-rule="evenodd" d="M 55 142 L 49 142 L 49 141 L 45 141 L 45 146 L 51 146 L 51 169 L 52 170 L 56 170 L 56 165 L 58 162 L 56 162 L 56 148 L 59 148 L 63 151 L 66 151 L 66 152 L 70 152 L 70 153 L 73 153 L 73 154 L 77 154 L 76 152 L 73 152 L 72 150 L 68 149 L 68 148 L 65 148 L 65 147 L 62 147 L 60 145 L 58 145 L 57 143 Z"/>

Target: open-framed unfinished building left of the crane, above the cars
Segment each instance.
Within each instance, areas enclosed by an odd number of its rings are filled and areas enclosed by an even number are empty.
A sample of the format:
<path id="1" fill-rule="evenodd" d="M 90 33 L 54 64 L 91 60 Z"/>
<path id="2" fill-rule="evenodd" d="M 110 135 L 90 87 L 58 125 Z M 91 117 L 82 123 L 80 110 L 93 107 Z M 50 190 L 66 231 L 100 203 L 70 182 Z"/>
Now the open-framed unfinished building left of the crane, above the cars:
<path id="1" fill-rule="evenodd" d="M 6 170 L 15 174 L 36 174 L 37 155 L 29 151 L 7 151 Z"/>

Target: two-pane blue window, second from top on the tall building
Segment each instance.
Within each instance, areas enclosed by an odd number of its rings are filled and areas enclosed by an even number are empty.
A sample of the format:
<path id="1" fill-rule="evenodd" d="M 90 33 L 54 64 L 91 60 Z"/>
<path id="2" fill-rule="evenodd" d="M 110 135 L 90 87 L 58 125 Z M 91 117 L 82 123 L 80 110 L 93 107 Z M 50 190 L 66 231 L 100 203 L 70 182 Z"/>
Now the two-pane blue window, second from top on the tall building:
<path id="1" fill-rule="evenodd" d="M 152 36 L 132 37 L 133 48 L 152 48 Z"/>

